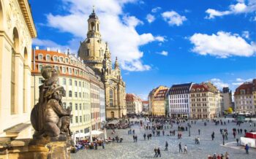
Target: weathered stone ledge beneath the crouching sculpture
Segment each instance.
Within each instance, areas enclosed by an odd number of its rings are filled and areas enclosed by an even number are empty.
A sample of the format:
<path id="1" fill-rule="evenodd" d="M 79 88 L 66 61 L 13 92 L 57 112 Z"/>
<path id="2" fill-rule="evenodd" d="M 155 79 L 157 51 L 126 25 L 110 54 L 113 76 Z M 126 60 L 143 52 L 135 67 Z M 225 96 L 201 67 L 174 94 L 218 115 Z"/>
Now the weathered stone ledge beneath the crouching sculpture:
<path id="1" fill-rule="evenodd" d="M 0 141 L 0 158 L 70 158 L 71 139 L 66 136 Z"/>

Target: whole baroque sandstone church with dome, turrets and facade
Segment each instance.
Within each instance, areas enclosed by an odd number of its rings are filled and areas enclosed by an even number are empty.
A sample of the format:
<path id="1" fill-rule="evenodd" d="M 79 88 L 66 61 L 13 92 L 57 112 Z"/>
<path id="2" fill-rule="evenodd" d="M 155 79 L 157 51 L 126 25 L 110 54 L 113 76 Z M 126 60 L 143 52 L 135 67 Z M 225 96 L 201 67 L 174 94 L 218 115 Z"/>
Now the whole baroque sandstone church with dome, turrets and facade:
<path id="1" fill-rule="evenodd" d="M 89 15 L 87 38 L 80 43 L 78 56 L 93 69 L 105 85 L 106 118 L 121 118 L 127 114 L 126 85 L 116 58 L 114 68 L 107 42 L 99 32 L 99 18 L 94 10 Z"/>

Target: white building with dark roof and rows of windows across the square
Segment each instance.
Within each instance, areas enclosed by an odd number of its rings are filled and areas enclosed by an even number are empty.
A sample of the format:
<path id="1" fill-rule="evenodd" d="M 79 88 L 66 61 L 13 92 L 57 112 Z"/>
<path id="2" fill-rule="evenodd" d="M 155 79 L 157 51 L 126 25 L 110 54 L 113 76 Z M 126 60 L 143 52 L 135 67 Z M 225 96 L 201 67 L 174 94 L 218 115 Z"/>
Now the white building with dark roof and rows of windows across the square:
<path id="1" fill-rule="evenodd" d="M 190 117 L 189 91 L 192 83 L 173 85 L 167 93 L 168 115 L 170 117 Z"/>

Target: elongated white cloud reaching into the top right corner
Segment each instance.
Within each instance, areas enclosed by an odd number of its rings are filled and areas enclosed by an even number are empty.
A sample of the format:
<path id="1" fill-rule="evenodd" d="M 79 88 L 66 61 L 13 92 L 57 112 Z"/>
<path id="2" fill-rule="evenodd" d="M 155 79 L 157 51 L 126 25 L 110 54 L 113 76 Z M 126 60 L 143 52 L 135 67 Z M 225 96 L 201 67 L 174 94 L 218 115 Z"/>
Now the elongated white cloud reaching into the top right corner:
<path id="1" fill-rule="evenodd" d="M 237 0 L 236 4 L 231 4 L 229 9 L 226 11 L 218 11 L 216 9 L 207 9 L 206 19 L 214 19 L 215 17 L 222 17 L 224 15 L 236 15 L 241 13 L 249 13 L 256 11 L 256 1 L 255 0 Z"/>

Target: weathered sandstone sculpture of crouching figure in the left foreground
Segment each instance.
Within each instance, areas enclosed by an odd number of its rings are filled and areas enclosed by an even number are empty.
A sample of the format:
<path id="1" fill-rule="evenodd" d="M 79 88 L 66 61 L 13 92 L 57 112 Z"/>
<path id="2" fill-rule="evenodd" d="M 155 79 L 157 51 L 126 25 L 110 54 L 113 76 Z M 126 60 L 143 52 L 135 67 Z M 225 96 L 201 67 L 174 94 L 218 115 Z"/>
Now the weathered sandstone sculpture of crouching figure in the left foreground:
<path id="1" fill-rule="evenodd" d="M 66 92 L 58 84 L 59 73 L 51 66 L 43 67 L 41 72 L 45 80 L 39 86 L 39 102 L 31 111 L 34 138 L 58 137 L 60 134 L 70 136 L 71 110 L 62 106 L 61 98 Z"/>

